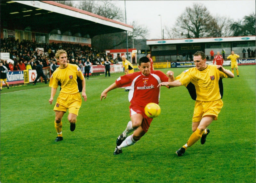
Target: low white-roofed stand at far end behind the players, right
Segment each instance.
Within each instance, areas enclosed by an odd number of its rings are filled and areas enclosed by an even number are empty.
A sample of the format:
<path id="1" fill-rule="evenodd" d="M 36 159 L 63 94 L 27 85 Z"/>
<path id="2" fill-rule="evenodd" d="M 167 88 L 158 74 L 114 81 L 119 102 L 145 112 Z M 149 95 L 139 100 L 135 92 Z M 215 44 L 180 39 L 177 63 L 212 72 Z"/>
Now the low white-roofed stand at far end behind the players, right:
<path id="1" fill-rule="evenodd" d="M 255 50 L 255 36 L 147 40 L 147 45 L 154 62 L 176 62 L 177 54 L 180 55 L 180 61 L 188 61 L 189 55 L 193 56 L 196 51 L 203 51 L 211 59 L 211 50 L 214 51 L 214 56 L 217 51 L 221 54 L 225 50 L 225 59 L 231 54 L 231 50 L 243 58 L 243 49 Z M 182 56 L 184 53 L 185 60 Z"/>

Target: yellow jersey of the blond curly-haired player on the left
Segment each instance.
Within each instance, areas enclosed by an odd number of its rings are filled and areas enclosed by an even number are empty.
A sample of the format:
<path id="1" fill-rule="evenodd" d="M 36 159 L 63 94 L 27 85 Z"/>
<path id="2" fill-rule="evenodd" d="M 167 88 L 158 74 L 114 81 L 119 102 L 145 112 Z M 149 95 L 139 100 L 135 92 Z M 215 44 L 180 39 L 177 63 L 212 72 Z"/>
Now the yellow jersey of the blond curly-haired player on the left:
<path id="1" fill-rule="evenodd" d="M 57 68 L 51 76 L 49 86 L 58 88 L 58 82 L 61 83 L 60 93 L 75 94 L 78 93 L 77 77 L 84 80 L 84 75 L 80 68 L 75 64 L 68 64 L 65 68 Z"/>

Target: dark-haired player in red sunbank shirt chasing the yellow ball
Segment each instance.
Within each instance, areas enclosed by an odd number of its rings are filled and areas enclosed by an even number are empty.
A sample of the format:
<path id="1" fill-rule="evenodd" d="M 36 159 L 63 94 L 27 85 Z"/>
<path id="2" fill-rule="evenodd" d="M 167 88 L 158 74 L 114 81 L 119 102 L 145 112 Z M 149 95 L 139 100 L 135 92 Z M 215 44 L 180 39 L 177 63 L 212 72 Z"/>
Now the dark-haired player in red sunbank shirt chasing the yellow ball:
<path id="1" fill-rule="evenodd" d="M 153 118 L 148 118 L 144 108 L 148 103 L 159 103 L 160 90 L 157 85 L 161 82 L 174 81 L 173 72 L 168 71 L 167 76 L 162 71 L 150 71 L 148 57 L 139 59 L 139 72 L 133 72 L 119 77 L 112 85 L 100 95 L 100 100 L 107 97 L 107 93 L 115 88 L 129 87 L 130 117 L 126 129 L 116 140 L 114 155 L 122 153 L 122 148 L 131 146 L 148 132 Z M 134 132 L 133 132 L 134 131 Z M 132 135 L 128 136 L 129 133 Z"/>

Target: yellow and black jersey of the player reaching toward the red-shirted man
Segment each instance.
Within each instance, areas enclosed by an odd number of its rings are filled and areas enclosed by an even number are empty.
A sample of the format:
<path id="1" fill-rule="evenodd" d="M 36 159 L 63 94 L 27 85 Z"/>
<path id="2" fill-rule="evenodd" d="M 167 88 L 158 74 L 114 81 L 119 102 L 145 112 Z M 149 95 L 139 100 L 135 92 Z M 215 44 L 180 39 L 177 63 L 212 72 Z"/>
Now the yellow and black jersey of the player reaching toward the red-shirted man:
<path id="1" fill-rule="evenodd" d="M 192 99 L 209 102 L 222 98 L 222 78 L 228 78 L 228 76 L 220 72 L 216 65 L 207 65 L 202 71 L 196 67 L 190 68 L 177 76 L 176 80 L 188 88 L 191 97 L 194 95 Z M 191 83 L 194 86 L 191 87 Z"/>

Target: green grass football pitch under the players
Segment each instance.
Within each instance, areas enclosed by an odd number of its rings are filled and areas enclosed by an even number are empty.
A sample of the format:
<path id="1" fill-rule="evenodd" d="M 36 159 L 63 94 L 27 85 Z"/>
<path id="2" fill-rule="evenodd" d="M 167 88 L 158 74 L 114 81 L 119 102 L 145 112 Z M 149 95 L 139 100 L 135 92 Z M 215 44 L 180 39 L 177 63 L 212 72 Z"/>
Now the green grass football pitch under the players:
<path id="1" fill-rule="evenodd" d="M 185 69 L 161 71 L 177 76 Z M 192 133 L 195 103 L 183 86 L 162 87 L 161 115 L 139 142 L 113 155 L 130 119 L 128 92 L 117 88 L 103 101 L 100 94 L 122 74 L 86 80 L 88 100 L 76 130 L 70 132 L 65 114 L 64 140 L 57 143 L 51 88 L 44 83 L 3 88 L 1 182 L 255 182 L 255 65 L 239 66 L 240 77 L 223 80 L 224 107 L 205 145 L 197 142 L 182 157 L 175 151 Z"/>

